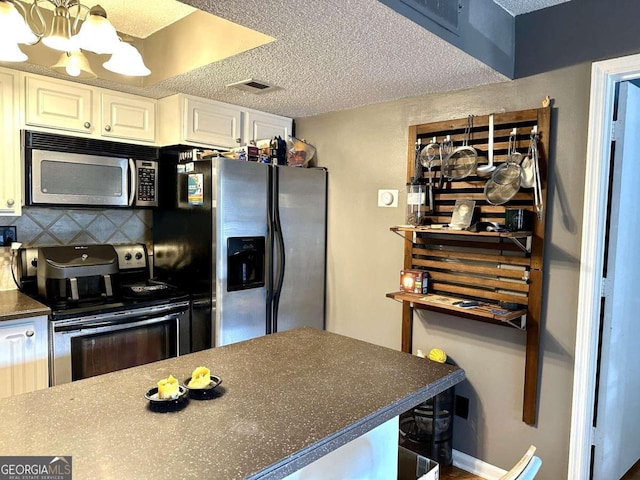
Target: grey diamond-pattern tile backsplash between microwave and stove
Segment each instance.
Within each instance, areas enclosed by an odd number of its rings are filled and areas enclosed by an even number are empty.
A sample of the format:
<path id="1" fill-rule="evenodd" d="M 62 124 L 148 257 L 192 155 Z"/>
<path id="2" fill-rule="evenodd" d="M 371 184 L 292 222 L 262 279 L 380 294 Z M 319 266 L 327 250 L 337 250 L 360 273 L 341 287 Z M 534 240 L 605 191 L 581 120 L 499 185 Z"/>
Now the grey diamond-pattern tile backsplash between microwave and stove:
<path id="1" fill-rule="evenodd" d="M 95 243 L 146 243 L 151 249 L 153 213 L 144 209 L 70 209 L 24 207 L 20 217 L 0 217 L 15 225 L 23 247 Z M 11 250 L 0 247 L 0 290 L 16 288 Z"/>

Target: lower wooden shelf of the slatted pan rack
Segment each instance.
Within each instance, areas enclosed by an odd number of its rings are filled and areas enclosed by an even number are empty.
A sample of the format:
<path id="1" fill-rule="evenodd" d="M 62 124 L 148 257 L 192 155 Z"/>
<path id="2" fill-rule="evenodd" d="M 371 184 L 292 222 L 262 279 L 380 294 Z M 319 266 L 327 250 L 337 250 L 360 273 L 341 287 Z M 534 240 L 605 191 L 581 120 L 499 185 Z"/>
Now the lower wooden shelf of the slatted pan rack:
<path id="1" fill-rule="evenodd" d="M 526 326 L 526 309 L 506 310 L 501 308 L 499 305 L 485 302 L 481 302 L 475 307 L 460 307 L 453 303 L 464 301 L 466 300 L 465 298 L 435 295 L 431 293 L 420 295 L 417 293 L 392 292 L 387 293 L 387 297 L 400 302 L 411 302 L 414 308 L 422 308 L 424 310 L 458 315 L 471 320 L 507 325 L 521 330 L 524 330 Z"/>

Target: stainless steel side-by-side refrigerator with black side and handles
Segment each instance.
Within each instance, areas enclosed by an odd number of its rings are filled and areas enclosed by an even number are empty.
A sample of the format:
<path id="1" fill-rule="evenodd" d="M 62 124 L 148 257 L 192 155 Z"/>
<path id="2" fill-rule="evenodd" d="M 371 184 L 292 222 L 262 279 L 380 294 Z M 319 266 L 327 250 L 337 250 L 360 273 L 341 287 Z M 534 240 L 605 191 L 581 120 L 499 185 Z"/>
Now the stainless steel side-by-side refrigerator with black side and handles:
<path id="1" fill-rule="evenodd" d="M 166 147 L 154 276 L 191 293 L 192 351 L 324 328 L 327 171 Z"/>

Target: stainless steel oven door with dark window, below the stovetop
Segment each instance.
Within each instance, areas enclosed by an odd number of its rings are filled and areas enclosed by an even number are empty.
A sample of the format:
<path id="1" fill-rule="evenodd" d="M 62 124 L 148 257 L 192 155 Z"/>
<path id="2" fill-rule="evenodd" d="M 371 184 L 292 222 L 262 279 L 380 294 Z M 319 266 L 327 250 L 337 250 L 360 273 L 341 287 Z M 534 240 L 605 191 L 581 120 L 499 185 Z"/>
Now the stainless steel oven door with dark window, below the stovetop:
<path id="1" fill-rule="evenodd" d="M 189 303 L 52 322 L 50 383 L 189 353 Z"/>

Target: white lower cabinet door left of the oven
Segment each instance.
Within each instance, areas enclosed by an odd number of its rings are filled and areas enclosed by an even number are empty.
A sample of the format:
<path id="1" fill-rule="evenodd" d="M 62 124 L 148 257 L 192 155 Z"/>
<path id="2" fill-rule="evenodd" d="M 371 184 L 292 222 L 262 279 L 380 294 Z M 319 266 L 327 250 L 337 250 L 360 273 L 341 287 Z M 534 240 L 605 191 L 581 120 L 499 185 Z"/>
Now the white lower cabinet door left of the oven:
<path id="1" fill-rule="evenodd" d="M 47 317 L 0 322 L 0 398 L 49 386 Z"/>

